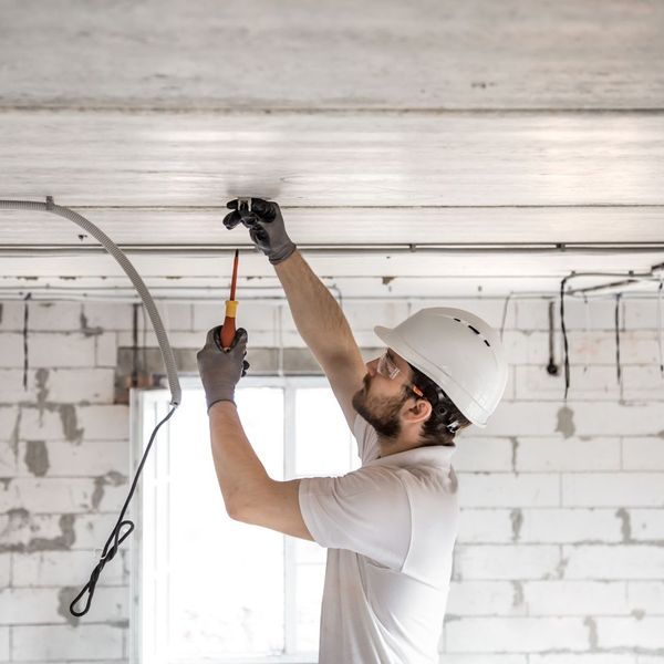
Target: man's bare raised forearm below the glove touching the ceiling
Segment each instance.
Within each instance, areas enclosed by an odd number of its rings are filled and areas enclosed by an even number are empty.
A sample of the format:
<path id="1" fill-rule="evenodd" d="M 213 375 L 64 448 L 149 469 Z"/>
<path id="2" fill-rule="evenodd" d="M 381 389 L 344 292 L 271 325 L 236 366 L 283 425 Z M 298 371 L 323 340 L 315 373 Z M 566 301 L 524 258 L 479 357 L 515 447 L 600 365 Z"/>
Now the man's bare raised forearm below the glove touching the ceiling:
<path id="1" fill-rule="evenodd" d="M 330 356 L 355 346 L 341 307 L 299 250 L 274 266 L 298 332 L 314 355 Z"/>

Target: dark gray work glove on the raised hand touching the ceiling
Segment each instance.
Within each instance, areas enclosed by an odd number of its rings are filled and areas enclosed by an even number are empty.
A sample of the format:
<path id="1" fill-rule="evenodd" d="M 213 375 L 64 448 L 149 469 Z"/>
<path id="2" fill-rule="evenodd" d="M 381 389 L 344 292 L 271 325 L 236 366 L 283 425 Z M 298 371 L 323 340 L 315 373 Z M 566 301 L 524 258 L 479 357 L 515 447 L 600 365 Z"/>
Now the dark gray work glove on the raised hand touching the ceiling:
<path id="1" fill-rule="evenodd" d="M 243 224 L 249 229 L 252 242 L 276 266 L 286 260 L 298 247 L 286 232 L 283 217 L 277 203 L 251 199 L 251 209 L 238 209 L 238 199 L 229 200 L 226 207 L 234 210 L 224 218 L 224 226 L 232 230 L 238 224 Z"/>

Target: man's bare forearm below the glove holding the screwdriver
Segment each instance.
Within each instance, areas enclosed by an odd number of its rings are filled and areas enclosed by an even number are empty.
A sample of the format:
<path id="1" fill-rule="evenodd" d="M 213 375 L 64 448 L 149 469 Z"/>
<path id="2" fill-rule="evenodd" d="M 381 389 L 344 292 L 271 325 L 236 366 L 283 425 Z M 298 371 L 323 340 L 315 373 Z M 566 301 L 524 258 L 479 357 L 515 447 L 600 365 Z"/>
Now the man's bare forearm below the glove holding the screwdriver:
<path id="1" fill-rule="evenodd" d="M 215 470 L 226 511 L 232 516 L 240 508 L 243 497 L 269 481 L 269 476 L 245 434 L 232 402 L 212 404 L 209 419 Z"/>

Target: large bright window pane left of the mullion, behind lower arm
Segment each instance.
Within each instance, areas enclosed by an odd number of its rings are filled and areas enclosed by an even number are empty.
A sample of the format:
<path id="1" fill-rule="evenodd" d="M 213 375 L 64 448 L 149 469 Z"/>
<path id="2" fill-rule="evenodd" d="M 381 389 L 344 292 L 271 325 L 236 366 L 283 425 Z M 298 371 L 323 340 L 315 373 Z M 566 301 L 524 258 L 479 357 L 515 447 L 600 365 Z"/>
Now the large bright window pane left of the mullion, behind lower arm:
<path id="1" fill-rule="evenodd" d="M 283 392 L 238 388 L 242 426 L 268 474 L 283 476 Z M 284 647 L 283 536 L 232 521 L 215 474 L 203 391 L 172 422 L 168 661 L 278 654 Z"/>

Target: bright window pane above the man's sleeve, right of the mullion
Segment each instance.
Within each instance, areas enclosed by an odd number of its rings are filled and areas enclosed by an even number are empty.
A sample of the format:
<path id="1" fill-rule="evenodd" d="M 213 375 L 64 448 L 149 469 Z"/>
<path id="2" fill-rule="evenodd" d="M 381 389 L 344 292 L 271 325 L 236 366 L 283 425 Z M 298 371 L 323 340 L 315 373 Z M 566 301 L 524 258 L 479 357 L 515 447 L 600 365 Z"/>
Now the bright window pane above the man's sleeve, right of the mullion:
<path id="1" fill-rule="evenodd" d="M 329 387 L 300 387 L 295 396 L 295 473 L 344 475 L 356 445 L 343 411 Z"/>

